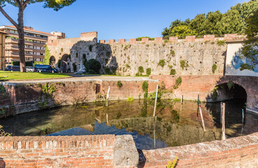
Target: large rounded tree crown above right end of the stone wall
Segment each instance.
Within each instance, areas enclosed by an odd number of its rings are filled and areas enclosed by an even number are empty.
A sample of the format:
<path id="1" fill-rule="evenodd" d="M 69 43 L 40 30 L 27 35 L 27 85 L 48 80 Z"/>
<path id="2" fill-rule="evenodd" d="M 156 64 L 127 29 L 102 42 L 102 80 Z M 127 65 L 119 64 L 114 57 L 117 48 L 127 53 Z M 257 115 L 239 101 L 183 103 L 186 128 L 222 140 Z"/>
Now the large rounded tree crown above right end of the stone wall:
<path id="1" fill-rule="evenodd" d="M 223 14 L 222 20 L 217 22 L 217 28 L 219 34 L 243 33 L 245 20 L 240 17 L 238 10 L 231 9 Z"/>

